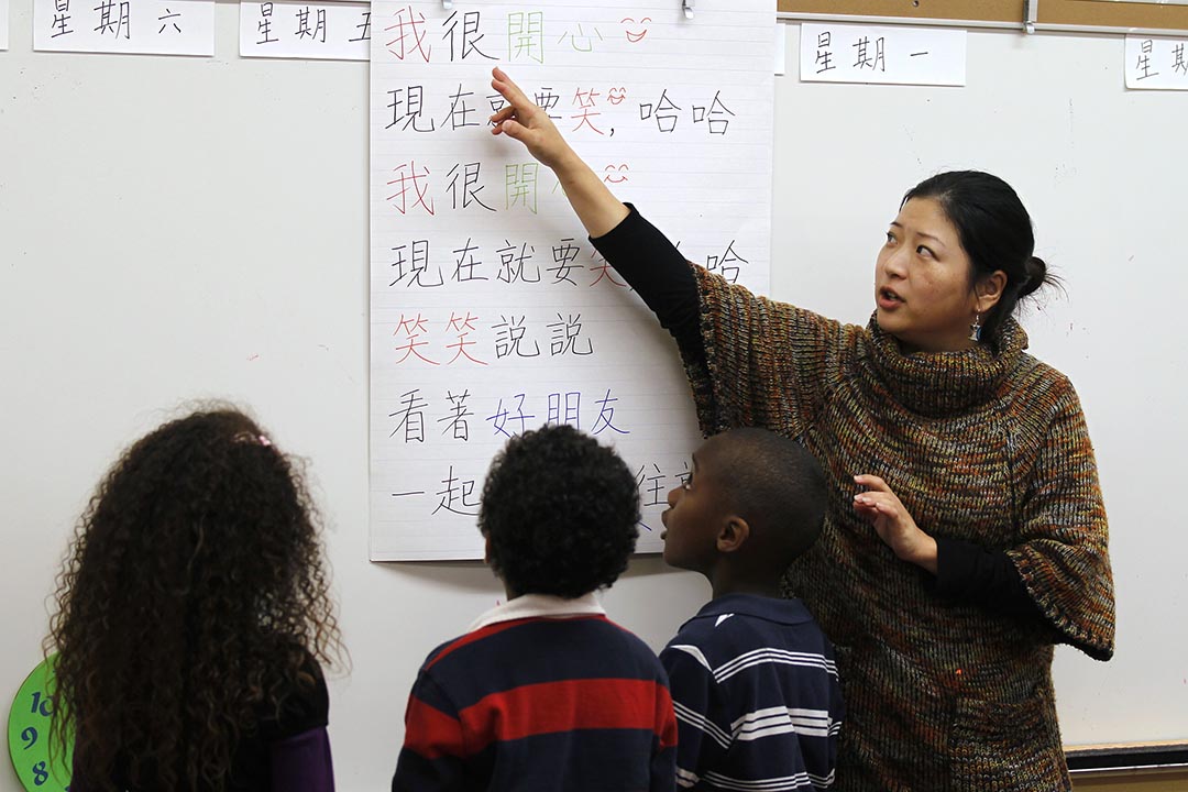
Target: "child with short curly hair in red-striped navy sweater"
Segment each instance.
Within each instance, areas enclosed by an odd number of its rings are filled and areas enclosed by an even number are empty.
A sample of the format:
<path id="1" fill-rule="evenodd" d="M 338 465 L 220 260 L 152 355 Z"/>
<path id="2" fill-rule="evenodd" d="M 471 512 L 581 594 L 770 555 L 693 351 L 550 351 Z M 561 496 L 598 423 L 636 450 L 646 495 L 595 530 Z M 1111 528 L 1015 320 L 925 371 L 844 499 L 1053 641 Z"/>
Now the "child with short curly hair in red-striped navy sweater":
<path id="1" fill-rule="evenodd" d="M 639 490 L 609 448 L 545 426 L 487 474 L 479 530 L 507 602 L 434 650 L 392 790 L 672 790 L 664 670 L 594 593 L 636 547 Z"/>

